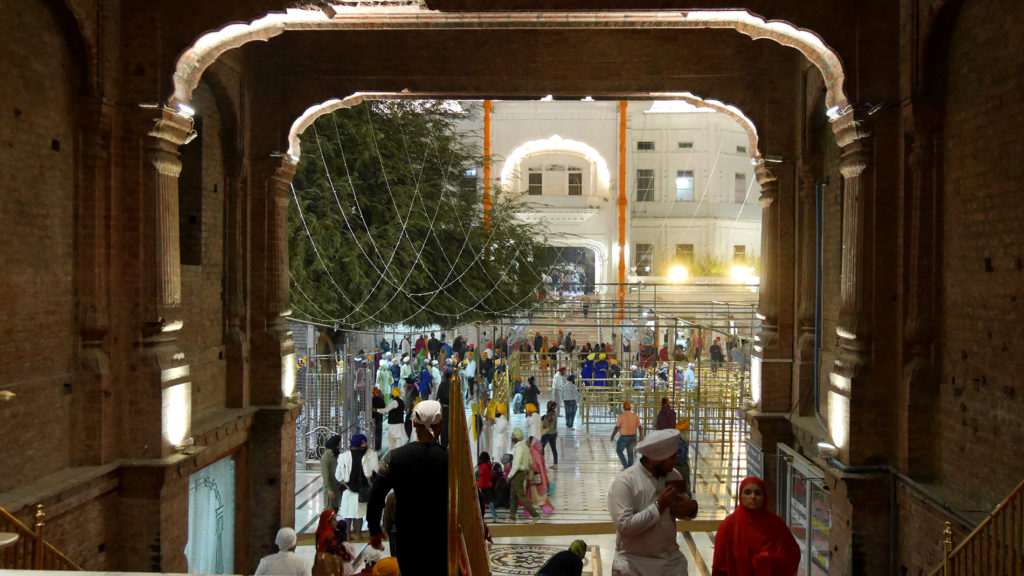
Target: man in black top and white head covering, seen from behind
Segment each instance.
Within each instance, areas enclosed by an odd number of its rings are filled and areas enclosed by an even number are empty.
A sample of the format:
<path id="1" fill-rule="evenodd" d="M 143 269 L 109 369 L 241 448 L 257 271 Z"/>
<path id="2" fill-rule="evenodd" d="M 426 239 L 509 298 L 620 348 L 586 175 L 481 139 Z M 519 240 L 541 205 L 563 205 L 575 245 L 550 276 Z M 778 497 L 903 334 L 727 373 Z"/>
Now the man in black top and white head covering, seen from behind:
<path id="1" fill-rule="evenodd" d="M 412 420 L 416 441 L 389 451 L 377 468 L 380 478 L 367 506 L 370 545 L 384 549 L 381 516 L 394 490 L 401 574 L 435 576 L 447 572 L 447 451 L 437 443 L 443 427 L 440 403 L 417 404 Z"/>

